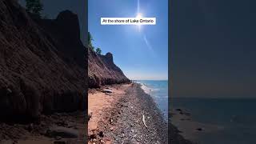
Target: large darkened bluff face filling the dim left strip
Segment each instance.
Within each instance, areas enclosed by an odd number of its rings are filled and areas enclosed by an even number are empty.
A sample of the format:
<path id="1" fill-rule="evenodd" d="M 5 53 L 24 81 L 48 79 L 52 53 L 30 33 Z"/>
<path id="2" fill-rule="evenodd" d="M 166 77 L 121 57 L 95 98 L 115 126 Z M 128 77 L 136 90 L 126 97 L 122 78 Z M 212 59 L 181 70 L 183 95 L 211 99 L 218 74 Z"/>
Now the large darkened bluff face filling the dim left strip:
<path id="1" fill-rule="evenodd" d="M 36 20 L 0 0 L 0 118 L 84 110 L 86 55 L 75 14 Z"/>

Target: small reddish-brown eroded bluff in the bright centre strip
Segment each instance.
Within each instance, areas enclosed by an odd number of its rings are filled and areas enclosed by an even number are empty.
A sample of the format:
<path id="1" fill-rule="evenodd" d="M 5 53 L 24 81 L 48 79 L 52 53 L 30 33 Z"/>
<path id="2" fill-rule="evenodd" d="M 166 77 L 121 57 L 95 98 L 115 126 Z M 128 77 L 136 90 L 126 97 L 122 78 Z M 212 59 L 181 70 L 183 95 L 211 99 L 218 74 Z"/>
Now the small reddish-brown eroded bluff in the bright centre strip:
<path id="1" fill-rule="evenodd" d="M 89 87 L 99 87 L 114 83 L 130 82 L 122 70 L 113 62 L 113 55 L 99 55 L 88 48 L 88 82 Z"/>

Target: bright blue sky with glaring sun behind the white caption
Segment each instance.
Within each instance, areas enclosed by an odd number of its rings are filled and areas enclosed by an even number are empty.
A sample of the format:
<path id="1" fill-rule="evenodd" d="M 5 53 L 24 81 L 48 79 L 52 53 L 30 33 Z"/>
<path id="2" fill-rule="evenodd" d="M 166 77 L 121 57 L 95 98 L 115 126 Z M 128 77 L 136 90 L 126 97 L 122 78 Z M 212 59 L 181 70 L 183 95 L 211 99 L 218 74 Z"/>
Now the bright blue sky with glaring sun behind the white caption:
<path id="1" fill-rule="evenodd" d="M 128 78 L 168 78 L 167 0 L 89 0 L 88 7 L 93 45 L 103 54 L 111 52 L 114 63 Z M 138 11 L 143 17 L 157 18 L 157 25 L 142 26 L 141 30 L 138 26 L 100 25 L 101 17 L 136 17 Z"/>

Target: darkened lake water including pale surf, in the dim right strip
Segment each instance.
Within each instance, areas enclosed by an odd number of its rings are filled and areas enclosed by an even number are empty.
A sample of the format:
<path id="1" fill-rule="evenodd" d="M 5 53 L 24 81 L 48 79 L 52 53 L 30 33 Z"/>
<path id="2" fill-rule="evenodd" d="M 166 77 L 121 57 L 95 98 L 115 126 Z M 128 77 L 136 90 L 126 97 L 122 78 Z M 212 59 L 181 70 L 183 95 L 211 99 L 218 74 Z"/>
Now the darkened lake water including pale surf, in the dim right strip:
<path id="1" fill-rule="evenodd" d="M 215 139 L 225 144 L 256 142 L 251 137 L 256 128 L 255 99 L 173 98 L 173 102 L 172 123 L 190 141 L 209 144 L 214 144 Z"/>

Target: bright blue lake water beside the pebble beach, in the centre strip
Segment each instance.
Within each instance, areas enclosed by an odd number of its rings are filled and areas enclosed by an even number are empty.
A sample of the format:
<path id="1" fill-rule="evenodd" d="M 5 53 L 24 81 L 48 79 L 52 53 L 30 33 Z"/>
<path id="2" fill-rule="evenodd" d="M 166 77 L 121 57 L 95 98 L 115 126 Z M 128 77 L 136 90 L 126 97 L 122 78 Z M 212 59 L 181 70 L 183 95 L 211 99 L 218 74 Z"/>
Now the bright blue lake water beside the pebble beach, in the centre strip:
<path id="1" fill-rule="evenodd" d="M 146 93 L 150 94 L 154 101 L 158 104 L 158 108 L 168 118 L 168 81 L 152 81 L 152 80 L 141 80 L 137 81 L 142 84 L 142 89 Z M 145 84 L 145 85 L 143 85 Z"/>

